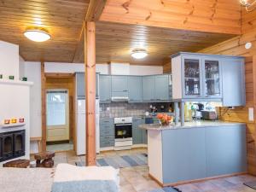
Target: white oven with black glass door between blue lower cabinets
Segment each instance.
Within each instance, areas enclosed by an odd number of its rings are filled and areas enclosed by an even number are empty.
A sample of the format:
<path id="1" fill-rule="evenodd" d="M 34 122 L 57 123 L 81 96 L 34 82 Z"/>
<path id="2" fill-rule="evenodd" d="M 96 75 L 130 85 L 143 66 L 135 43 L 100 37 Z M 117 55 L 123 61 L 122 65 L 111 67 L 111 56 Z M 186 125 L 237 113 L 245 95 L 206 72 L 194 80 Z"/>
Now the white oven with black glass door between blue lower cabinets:
<path id="1" fill-rule="evenodd" d="M 132 118 L 114 118 L 114 149 L 131 149 L 132 146 Z"/>

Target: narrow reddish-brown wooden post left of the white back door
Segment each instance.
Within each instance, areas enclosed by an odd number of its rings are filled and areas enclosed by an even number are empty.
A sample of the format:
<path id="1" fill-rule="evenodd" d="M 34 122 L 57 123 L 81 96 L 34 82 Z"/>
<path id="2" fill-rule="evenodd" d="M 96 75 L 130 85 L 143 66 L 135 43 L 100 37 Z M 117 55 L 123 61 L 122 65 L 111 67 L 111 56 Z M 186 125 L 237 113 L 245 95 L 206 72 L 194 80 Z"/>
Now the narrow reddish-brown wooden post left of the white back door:
<path id="1" fill-rule="evenodd" d="M 46 151 L 46 93 L 45 93 L 44 61 L 41 61 L 41 96 L 42 96 L 42 151 Z"/>

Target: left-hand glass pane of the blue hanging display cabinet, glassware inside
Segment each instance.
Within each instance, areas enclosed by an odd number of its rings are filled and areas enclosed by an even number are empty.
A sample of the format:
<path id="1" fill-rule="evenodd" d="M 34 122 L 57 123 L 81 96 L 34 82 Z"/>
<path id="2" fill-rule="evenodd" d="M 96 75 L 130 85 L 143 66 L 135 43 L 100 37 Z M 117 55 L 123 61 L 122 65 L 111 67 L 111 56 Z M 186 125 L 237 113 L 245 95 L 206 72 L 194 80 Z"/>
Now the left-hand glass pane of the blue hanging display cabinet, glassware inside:
<path id="1" fill-rule="evenodd" d="M 200 60 L 184 59 L 184 94 L 185 96 L 200 96 Z"/>

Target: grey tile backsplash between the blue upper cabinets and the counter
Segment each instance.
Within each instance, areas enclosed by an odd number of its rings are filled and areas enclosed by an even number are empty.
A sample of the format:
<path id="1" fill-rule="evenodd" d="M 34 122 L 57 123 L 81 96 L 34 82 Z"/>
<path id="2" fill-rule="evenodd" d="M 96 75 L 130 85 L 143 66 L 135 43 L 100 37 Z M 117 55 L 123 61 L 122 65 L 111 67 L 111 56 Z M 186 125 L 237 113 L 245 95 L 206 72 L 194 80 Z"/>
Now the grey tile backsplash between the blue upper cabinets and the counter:
<path id="1" fill-rule="evenodd" d="M 111 102 L 100 104 L 101 118 L 115 118 L 115 117 L 133 117 L 142 116 L 146 111 L 150 112 L 150 105 L 156 107 L 164 105 L 166 111 L 170 103 L 128 103 L 128 102 Z M 159 107 L 160 108 L 160 107 Z"/>

